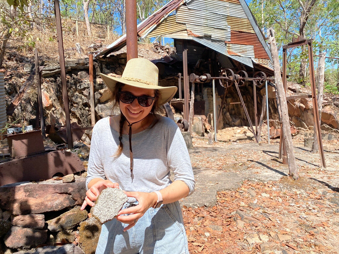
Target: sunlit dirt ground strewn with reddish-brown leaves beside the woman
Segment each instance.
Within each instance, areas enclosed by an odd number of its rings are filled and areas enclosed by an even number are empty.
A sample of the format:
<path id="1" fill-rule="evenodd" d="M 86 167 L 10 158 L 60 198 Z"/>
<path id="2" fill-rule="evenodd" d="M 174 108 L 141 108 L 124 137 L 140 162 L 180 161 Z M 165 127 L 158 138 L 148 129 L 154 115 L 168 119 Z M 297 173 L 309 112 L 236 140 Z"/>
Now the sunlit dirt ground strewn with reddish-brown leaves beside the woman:
<path id="1" fill-rule="evenodd" d="M 298 182 L 276 142 L 193 143 L 196 191 L 181 202 L 191 253 L 339 253 L 336 143 L 324 142 L 324 170 L 319 153 L 295 147 Z"/>

